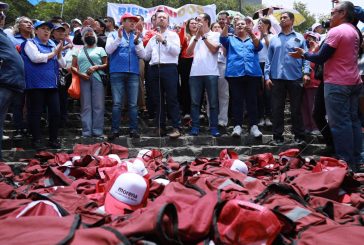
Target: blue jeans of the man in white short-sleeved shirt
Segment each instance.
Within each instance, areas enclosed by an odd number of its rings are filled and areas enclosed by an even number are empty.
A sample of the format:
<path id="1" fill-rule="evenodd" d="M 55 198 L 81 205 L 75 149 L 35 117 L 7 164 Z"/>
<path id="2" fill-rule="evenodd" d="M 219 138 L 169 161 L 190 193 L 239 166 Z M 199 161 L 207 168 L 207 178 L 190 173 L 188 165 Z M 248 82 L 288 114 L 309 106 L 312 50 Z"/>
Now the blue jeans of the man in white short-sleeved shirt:
<path id="1" fill-rule="evenodd" d="M 190 77 L 192 127 L 200 127 L 200 103 L 205 89 L 210 105 L 210 128 L 217 127 L 219 115 L 218 80 L 219 76 Z"/>

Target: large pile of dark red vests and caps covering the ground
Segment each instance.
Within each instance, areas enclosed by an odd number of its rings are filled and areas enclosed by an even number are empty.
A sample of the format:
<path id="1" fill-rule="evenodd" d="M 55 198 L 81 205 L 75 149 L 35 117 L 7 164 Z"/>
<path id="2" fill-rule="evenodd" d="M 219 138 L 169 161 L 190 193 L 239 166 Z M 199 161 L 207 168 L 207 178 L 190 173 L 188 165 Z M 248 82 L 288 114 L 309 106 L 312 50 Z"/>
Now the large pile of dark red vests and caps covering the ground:
<path id="1" fill-rule="evenodd" d="M 0 243 L 364 241 L 364 177 L 349 173 L 343 161 L 303 159 L 291 149 L 276 158 L 251 156 L 238 171 L 232 167 L 238 155 L 229 150 L 193 162 L 176 162 L 155 149 L 144 153 L 128 159 L 127 148 L 98 143 L 76 145 L 72 154 L 40 152 L 23 159 L 21 171 L 0 163 Z M 115 188 L 130 171 L 146 188 L 139 196 Z M 117 191 L 130 200 L 109 211 Z"/>

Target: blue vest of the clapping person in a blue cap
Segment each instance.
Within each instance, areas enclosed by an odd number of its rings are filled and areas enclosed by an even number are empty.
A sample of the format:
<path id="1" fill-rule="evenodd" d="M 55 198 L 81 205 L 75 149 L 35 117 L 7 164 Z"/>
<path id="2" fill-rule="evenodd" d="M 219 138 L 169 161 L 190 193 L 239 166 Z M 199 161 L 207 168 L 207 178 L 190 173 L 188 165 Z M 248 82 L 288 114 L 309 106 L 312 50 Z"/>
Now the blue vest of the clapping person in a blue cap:
<path id="1" fill-rule="evenodd" d="M 55 44 L 49 40 L 47 44 L 42 44 L 40 40 L 35 37 L 27 42 L 33 42 L 39 52 L 43 54 L 51 53 Z M 33 63 L 24 51 L 26 42 L 22 44 L 21 55 L 24 60 L 25 67 L 25 82 L 26 89 L 44 89 L 44 88 L 57 88 L 58 80 L 58 61 L 57 57 L 48 60 L 47 63 Z"/>

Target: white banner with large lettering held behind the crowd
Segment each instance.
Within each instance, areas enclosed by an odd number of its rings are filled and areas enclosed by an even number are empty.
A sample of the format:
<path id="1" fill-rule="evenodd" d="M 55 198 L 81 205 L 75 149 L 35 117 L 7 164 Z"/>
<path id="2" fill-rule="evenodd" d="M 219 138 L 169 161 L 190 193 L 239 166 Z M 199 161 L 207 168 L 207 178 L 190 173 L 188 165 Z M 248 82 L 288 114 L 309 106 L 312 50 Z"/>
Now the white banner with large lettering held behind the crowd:
<path id="1" fill-rule="evenodd" d="M 171 8 L 165 5 L 159 5 L 153 8 L 143 8 L 135 4 L 119 4 L 119 3 L 107 3 L 107 16 L 113 17 L 115 22 L 120 25 L 120 18 L 125 13 L 131 13 L 133 15 L 141 15 L 144 17 L 146 23 L 146 29 L 150 29 L 150 18 L 157 10 L 163 10 L 169 15 L 169 24 L 182 25 L 184 21 L 194 18 L 199 14 L 207 13 L 211 17 L 211 23 L 216 21 L 216 5 L 196 5 L 186 4 L 178 9 Z"/>

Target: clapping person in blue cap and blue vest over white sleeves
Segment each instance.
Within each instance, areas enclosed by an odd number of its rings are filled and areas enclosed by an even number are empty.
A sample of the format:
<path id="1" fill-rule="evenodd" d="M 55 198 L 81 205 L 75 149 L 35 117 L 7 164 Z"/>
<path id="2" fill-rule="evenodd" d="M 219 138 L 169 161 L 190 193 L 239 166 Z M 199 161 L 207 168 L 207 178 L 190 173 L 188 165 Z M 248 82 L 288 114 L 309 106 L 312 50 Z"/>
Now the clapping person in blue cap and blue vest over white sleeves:
<path id="1" fill-rule="evenodd" d="M 53 24 L 37 21 L 34 24 L 36 37 L 22 44 L 21 55 L 24 60 L 27 101 L 29 103 L 29 128 L 32 133 L 32 147 L 42 150 L 41 114 L 48 108 L 50 148 L 60 148 L 58 128 L 60 107 L 58 95 L 59 67 L 65 67 L 62 57 L 63 43 L 57 46 L 50 40 Z M 23 48 L 24 47 L 24 48 Z"/>

